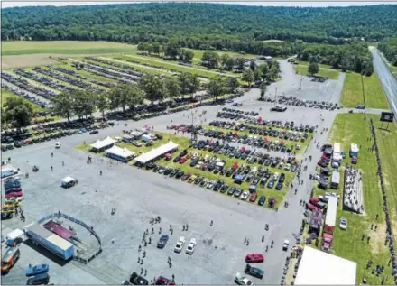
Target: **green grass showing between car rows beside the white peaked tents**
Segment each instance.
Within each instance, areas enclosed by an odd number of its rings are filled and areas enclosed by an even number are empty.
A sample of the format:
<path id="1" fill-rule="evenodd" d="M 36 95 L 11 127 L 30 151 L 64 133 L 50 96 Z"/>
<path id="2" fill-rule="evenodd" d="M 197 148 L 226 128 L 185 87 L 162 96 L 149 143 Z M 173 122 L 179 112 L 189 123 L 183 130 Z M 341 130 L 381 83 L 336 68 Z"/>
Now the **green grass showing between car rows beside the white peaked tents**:
<path id="1" fill-rule="evenodd" d="M 144 143 L 143 143 L 142 147 L 136 147 L 136 146 L 134 146 L 131 143 L 117 143 L 117 145 L 120 146 L 120 147 L 126 147 L 127 149 L 129 149 L 129 150 L 131 150 L 133 152 L 137 152 L 138 154 L 140 154 L 140 153 L 143 153 L 143 152 L 148 152 L 152 148 L 156 148 L 156 147 L 160 146 L 163 143 L 167 143 L 171 139 L 172 142 L 180 144 L 180 147 L 179 147 L 180 151 L 187 149 L 189 154 L 197 152 L 199 154 L 202 154 L 203 156 L 206 155 L 206 154 L 208 154 L 210 157 L 215 155 L 213 152 L 206 152 L 206 151 L 203 151 L 203 150 L 197 150 L 197 149 L 189 148 L 190 143 L 189 143 L 189 138 L 188 137 L 179 136 L 179 135 L 173 135 L 173 134 L 166 134 L 166 133 L 161 133 L 161 132 L 156 132 L 156 133 L 162 134 L 164 138 L 162 140 L 155 141 L 153 143 L 153 145 L 150 146 L 150 147 L 146 147 L 144 145 Z M 115 137 L 113 137 L 113 138 L 115 138 Z M 90 147 L 89 147 L 90 144 L 91 143 L 86 143 L 86 144 L 81 143 L 81 144 L 78 144 L 77 146 L 75 146 L 75 148 L 78 149 L 78 150 L 82 150 L 82 151 L 88 152 L 89 149 L 90 149 Z M 103 155 L 103 154 L 105 154 L 105 152 L 102 152 L 100 154 Z M 175 157 L 175 155 L 173 155 L 173 157 Z M 239 166 L 242 165 L 242 164 L 245 164 L 245 166 L 247 165 L 247 163 L 245 161 L 237 160 L 235 158 L 231 159 L 231 158 L 226 157 L 226 156 L 224 156 L 222 154 L 217 154 L 217 157 L 226 161 L 226 168 L 232 167 L 232 165 L 233 165 L 233 163 L 235 161 L 238 161 Z M 133 164 L 133 163 L 134 163 L 134 161 L 131 161 L 129 164 Z M 165 166 L 165 167 L 180 168 L 185 173 L 199 174 L 199 175 L 202 175 L 202 176 L 208 178 L 208 180 L 224 180 L 229 186 L 235 186 L 236 188 L 242 188 L 243 190 L 248 190 L 248 188 L 250 186 L 250 183 L 247 183 L 247 182 L 244 182 L 241 185 L 235 185 L 234 184 L 234 180 L 232 178 L 230 178 L 230 177 L 221 176 L 219 174 L 214 174 L 213 172 L 201 171 L 201 170 L 196 169 L 194 167 L 190 167 L 189 166 L 190 161 L 187 161 L 184 164 L 180 164 L 178 162 L 174 163 L 173 161 L 165 161 L 165 160 L 161 159 L 159 161 L 156 161 L 156 163 L 160 164 L 162 166 Z M 250 166 L 251 167 L 254 167 L 254 166 L 259 167 L 260 165 L 254 163 L 254 164 L 251 164 Z M 274 172 L 274 171 L 276 171 L 278 173 L 282 173 L 283 172 L 280 169 L 275 169 L 275 168 L 272 168 L 272 167 L 269 167 L 268 169 L 270 171 L 272 171 L 272 172 Z M 288 191 L 288 187 L 287 186 L 289 186 L 291 180 L 295 176 L 295 173 L 291 172 L 291 171 L 285 171 L 285 175 L 286 175 L 285 176 L 285 182 L 284 182 L 284 187 L 282 188 L 282 190 L 280 190 L 280 191 L 275 190 L 274 189 L 275 186 L 273 187 L 273 189 L 268 189 L 266 187 L 265 188 L 261 188 L 258 185 L 258 187 L 256 189 L 258 197 L 261 196 L 261 195 L 265 195 L 266 196 L 266 202 L 267 202 L 267 199 L 274 197 L 274 198 L 277 199 L 276 208 L 281 206 L 282 200 L 283 200 L 285 194 Z M 219 192 L 218 195 L 222 195 L 222 193 Z M 224 195 L 227 196 L 226 194 L 224 194 Z M 247 203 L 249 203 L 249 202 L 247 202 Z M 254 205 L 257 206 L 257 202 L 255 202 Z M 267 204 L 265 204 L 265 207 L 267 208 Z"/>

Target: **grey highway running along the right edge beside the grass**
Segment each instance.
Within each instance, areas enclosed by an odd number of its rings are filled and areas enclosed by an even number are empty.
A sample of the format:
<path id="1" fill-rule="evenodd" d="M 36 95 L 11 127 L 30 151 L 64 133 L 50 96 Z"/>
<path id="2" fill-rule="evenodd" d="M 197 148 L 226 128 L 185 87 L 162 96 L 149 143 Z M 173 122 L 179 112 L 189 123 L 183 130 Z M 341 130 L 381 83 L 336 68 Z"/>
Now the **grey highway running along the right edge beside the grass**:
<path id="1" fill-rule="evenodd" d="M 394 78 L 392 72 L 384 63 L 379 51 L 374 47 L 370 47 L 370 51 L 374 57 L 374 69 L 378 74 L 383 90 L 389 99 L 390 108 L 397 118 L 397 79 Z"/>

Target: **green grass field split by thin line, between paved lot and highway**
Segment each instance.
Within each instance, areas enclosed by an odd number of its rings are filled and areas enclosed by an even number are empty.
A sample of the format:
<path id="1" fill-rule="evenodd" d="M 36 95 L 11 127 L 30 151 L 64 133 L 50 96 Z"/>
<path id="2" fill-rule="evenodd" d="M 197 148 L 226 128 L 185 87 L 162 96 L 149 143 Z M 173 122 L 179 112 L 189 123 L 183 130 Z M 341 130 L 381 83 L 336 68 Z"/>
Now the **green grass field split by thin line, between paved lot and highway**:
<path id="1" fill-rule="evenodd" d="M 367 108 L 388 109 L 389 104 L 377 74 L 374 72 L 371 77 L 364 77 L 363 81 L 365 98 L 361 75 L 353 72 L 346 73 L 340 104 L 344 107 L 365 105 Z"/>

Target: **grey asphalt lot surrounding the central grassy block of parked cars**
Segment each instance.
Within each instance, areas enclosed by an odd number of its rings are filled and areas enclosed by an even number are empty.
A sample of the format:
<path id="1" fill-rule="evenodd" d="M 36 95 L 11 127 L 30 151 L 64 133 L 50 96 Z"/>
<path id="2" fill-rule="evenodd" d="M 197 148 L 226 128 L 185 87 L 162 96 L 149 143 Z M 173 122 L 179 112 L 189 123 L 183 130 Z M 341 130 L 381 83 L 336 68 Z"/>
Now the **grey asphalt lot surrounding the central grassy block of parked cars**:
<path id="1" fill-rule="evenodd" d="M 244 103 L 241 109 L 259 111 L 262 108 L 260 115 L 264 119 L 294 120 L 296 124 L 319 122 L 319 128 L 330 127 L 337 114 L 336 111 L 301 107 L 295 107 L 293 112 L 270 113 L 268 110 L 271 105 L 258 104 L 257 97 L 259 91 L 253 89 L 236 101 Z M 207 110 L 206 118 L 209 122 L 222 107 L 206 106 L 200 110 Z M 64 137 L 60 140 L 62 147 L 59 150 L 54 149 L 54 141 L 51 141 L 6 153 L 6 157 L 12 158 L 14 166 L 21 168 L 23 173 L 30 172 L 30 178 L 22 179 L 26 222 L 22 223 L 18 218 L 13 218 L 5 221 L 4 226 L 11 231 L 14 227 L 23 227 L 60 210 L 94 226 L 102 239 L 103 253 L 88 265 L 70 262 L 61 266 L 51 263 L 51 282 L 118 284 L 132 271 L 140 272 L 143 268 L 147 269 L 149 281 L 163 272 L 163 275 L 169 278 L 174 274 L 179 284 L 231 284 L 235 273 L 244 271 L 245 254 L 263 253 L 265 245 L 274 240 L 274 248 L 265 254 L 265 263 L 257 265 L 265 272 L 263 280 L 253 281 L 254 284 L 280 283 L 282 265 L 287 256 L 287 253 L 282 252 L 282 241 L 285 238 L 292 241 L 292 233 L 299 231 L 303 213 L 299 200 L 309 197 L 309 180 L 301 186 L 299 195 L 287 195 L 290 208 L 282 208 L 275 212 L 255 208 L 249 203 L 227 198 L 180 180 L 163 178 L 150 171 L 138 170 L 115 161 L 110 163 L 106 158 L 93 156 L 93 163 L 87 165 L 87 153 L 73 149 L 73 146 L 84 141 L 92 142 L 103 139 L 106 135 L 119 135 L 122 129 L 153 125 L 155 130 L 166 131 L 166 125 L 170 125 L 171 120 L 174 123 L 186 122 L 190 112 L 185 113 L 185 116 L 179 113 L 141 122 L 129 121 L 127 127 L 121 123 L 113 128 L 101 130 L 96 135 L 78 134 Z M 319 121 L 320 113 L 325 118 L 324 122 Z M 322 134 L 318 139 L 326 140 L 326 137 L 327 134 Z M 51 152 L 54 152 L 54 158 L 51 158 Z M 307 154 L 314 156 L 316 152 L 318 150 L 314 144 L 310 144 Z M 65 162 L 65 166 L 62 166 L 62 161 Z M 40 167 L 38 173 L 32 173 L 34 164 Z M 53 171 L 50 171 L 51 165 Z M 103 171 L 103 176 L 99 176 L 99 171 Z M 60 188 L 60 180 L 66 176 L 78 179 L 79 184 L 71 189 Z M 111 208 L 116 208 L 114 216 L 110 214 Z M 151 231 L 150 218 L 157 216 L 162 217 L 162 223 L 154 225 L 155 233 L 149 235 L 152 244 L 143 247 L 146 258 L 143 265 L 138 264 L 138 257 L 142 258 L 142 253 L 138 252 L 138 245 L 142 243 L 143 232 L 146 228 Z M 214 226 L 210 226 L 211 220 L 214 221 Z M 267 232 L 264 230 L 266 223 L 270 225 L 270 231 Z M 184 224 L 189 224 L 189 231 L 182 231 Z M 162 234 L 170 235 L 170 225 L 173 226 L 174 233 L 166 247 L 159 250 L 155 247 L 160 237 L 159 228 L 162 227 Z M 262 235 L 265 237 L 264 243 L 261 241 Z M 187 243 L 190 238 L 196 238 L 198 246 L 194 254 L 187 255 L 184 251 L 180 254 L 173 253 L 179 236 L 185 236 Z M 249 245 L 244 244 L 245 237 L 249 239 Z M 112 240 L 115 241 L 114 244 Z M 3 284 L 23 284 L 23 269 L 27 264 L 50 261 L 28 245 L 23 244 L 21 249 L 21 261 L 12 272 L 3 277 Z M 172 268 L 167 264 L 168 256 L 171 256 Z M 72 274 L 73 277 L 70 276 Z"/>

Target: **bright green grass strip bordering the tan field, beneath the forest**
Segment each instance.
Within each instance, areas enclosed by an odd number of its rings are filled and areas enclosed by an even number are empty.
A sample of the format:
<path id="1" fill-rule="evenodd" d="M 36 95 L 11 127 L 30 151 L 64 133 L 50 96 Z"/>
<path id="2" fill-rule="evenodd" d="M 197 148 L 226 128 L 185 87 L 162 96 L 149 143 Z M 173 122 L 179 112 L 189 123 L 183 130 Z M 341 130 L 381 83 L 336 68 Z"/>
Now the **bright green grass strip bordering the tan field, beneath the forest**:
<path id="1" fill-rule="evenodd" d="M 2 42 L 2 55 L 23 55 L 38 53 L 95 54 L 136 51 L 136 45 L 117 42 L 84 41 L 13 41 Z"/>

